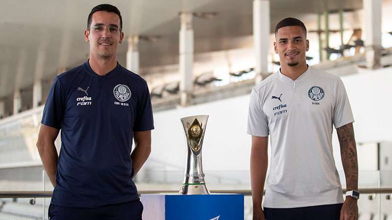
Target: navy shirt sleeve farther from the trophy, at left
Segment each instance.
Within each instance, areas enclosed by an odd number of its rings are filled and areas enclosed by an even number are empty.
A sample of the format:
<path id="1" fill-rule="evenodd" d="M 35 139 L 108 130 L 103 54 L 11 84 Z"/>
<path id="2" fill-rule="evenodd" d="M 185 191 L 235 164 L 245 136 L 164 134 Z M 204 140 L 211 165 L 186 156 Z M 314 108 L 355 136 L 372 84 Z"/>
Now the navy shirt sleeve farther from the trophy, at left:
<path id="1" fill-rule="evenodd" d="M 54 78 L 50 88 L 48 99 L 45 103 L 41 123 L 56 129 L 61 129 L 61 122 L 64 116 L 65 91 L 61 86 L 58 77 Z"/>

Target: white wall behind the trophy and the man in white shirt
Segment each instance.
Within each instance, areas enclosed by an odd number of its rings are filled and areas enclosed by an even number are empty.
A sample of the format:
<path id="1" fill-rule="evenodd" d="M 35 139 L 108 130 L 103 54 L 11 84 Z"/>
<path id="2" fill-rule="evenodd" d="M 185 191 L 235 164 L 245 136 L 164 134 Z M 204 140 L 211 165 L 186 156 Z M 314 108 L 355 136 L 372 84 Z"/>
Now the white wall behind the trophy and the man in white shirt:
<path id="1" fill-rule="evenodd" d="M 392 141 L 392 68 L 362 71 L 342 77 L 353 110 L 357 142 Z M 208 114 L 203 145 L 203 167 L 209 171 L 249 170 L 250 135 L 246 134 L 249 95 L 161 111 L 154 114 L 150 159 L 185 166 L 185 137 L 180 118 Z M 338 170 L 343 170 L 339 142 L 333 137 Z M 374 157 L 360 154 L 360 167 L 371 167 Z M 361 165 L 363 163 L 363 165 Z"/>

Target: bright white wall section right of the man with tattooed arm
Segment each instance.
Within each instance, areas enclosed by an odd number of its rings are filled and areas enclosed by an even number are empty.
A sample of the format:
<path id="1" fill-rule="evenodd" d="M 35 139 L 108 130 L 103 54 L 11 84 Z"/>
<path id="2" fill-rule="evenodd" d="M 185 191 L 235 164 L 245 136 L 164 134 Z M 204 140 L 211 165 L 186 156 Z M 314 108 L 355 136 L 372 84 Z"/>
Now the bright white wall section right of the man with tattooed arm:
<path id="1" fill-rule="evenodd" d="M 355 118 L 358 142 L 392 140 L 392 68 L 342 77 Z"/>

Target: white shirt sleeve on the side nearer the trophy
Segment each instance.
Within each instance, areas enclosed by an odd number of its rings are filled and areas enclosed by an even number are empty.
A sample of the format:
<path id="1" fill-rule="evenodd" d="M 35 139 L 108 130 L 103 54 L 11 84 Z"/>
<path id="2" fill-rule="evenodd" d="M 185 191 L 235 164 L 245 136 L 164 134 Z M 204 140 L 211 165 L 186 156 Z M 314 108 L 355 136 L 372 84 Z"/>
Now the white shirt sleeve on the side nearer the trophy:
<path id="1" fill-rule="evenodd" d="M 262 111 L 257 92 L 252 89 L 249 101 L 247 133 L 253 136 L 267 137 L 269 132 L 267 115 Z"/>

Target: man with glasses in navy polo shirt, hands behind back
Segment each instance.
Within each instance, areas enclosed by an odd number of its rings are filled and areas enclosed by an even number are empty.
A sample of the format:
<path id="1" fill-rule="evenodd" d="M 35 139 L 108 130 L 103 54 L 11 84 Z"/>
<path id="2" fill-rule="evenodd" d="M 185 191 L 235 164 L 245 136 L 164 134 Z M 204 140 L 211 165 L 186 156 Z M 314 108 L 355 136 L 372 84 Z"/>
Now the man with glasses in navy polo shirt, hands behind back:
<path id="1" fill-rule="evenodd" d="M 132 177 L 151 152 L 154 126 L 146 81 L 116 61 L 122 27 L 115 6 L 94 7 L 84 32 L 90 59 L 50 89 L 37 147 L 54 186 L 51 220 L 142 219 Z"/>

